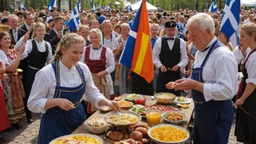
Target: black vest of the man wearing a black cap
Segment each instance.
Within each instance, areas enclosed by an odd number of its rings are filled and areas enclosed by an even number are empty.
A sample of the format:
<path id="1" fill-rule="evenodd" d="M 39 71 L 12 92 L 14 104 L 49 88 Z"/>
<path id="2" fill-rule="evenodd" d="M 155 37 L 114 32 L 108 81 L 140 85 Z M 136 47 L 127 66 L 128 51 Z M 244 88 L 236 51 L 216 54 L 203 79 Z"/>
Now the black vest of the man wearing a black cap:
<path id="1" fill-rule="evenodd" d="M 172 41 L 172 40 L 168 40 Z M 175 44 L 173 44 L 172 50 L 169 49 L 167 43 L 167 37 L 161 37 L 161 52 L 159 55 L 161 64 L 166 68 L 172 68 L 180 63 L 180 38 L 175 36 Z"/>

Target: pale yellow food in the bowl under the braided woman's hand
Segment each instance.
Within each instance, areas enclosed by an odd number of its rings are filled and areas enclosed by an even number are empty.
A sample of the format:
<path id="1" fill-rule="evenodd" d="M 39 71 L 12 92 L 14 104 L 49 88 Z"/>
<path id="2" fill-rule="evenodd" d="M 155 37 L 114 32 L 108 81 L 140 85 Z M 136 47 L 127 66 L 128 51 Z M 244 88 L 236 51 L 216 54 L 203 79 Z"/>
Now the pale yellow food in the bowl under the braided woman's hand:
<path id="1" fill-rule="evenodd" d="M 107 121 L 112 124 L 133 124 L 137 122 L 137 117 L 127 113 L 121 113 L 121 115 L 116 113 L 108 116 Z"/>

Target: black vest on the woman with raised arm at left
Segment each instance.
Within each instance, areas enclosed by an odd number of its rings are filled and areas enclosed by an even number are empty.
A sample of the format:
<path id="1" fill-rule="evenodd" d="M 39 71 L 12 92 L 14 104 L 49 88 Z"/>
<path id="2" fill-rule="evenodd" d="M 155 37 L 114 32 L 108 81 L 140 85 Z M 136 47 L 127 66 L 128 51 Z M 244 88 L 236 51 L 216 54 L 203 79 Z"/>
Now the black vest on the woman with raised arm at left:
<path id="1" fill-rule="evenodd" d="M 36 40 L 32 40 L 32 51 L 28 55 L 28 65 L 30 65 L 33 68 L 44 68 L 45 63 L 47 63 L 47 57 L 48 57 L 49 49 L 47 42 L 45 41 L 45 52 L 39 52 L 39 49 L 36 45 Z"/>

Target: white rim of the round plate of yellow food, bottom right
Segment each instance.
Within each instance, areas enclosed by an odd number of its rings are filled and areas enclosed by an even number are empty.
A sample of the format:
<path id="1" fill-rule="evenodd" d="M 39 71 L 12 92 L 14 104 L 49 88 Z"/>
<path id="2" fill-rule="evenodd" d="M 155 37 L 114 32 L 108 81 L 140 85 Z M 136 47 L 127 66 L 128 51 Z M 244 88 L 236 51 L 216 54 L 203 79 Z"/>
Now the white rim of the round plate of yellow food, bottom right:
<path id="1" fill-rule="evenodd" d="M 187 133 L 187 137 L 185 137 L 184 140 L 181 140 L 181 141 L 178 141 L 178 142 L 164 142 L 164 141 L 161 141 L 161 140 L 156 140 L 153 137 L 151 137 L 151 129 L 154 129 L 156 127 L 165 127 L 165 126 L 175 127 L 177 129 L 181 129 L 181 130 L 183 130 Z M 159 143 L 159 144 L 174 144 L 174 143 L 176 144 L 176 143 L 184 143 L 185 140 L 188 140 L 189 132 L 188 132 L 187 129 L 184 129 L 183 127 L 179 127 L 179 126 L 176 126 L 176 125 L 173 125 L 173 124 L 159 124 L 159 125 L 156 125 L 154 127 L 151 127 L 150 129 L 148 129 L 148 136 L 151 137 L 151 140 L 153 140 L 154 142 Z"/>

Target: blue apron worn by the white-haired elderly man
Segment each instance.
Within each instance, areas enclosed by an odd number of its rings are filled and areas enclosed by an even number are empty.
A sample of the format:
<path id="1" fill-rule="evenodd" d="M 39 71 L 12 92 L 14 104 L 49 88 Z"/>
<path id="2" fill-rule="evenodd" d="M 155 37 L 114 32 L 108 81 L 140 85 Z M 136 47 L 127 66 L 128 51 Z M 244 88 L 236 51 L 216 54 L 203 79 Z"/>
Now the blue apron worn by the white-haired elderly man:
<path id="1" fill-rule="evenodd" d="M 201 67 L 192 68 L 191 79 L 204 83 L 203 69 L 209 59 L 209 55 L 222 46 L 216 40 L 212 46 L 207 47 L 209 52 L 204 58 Z M 193 143 L 195 144 L 227 144 L 233 122 L 233 104 L 231 100 L 206 102 L 204 93 L 192 89 L 192 97 L 195 103 L 195 118 L 193 122 Z"/>

